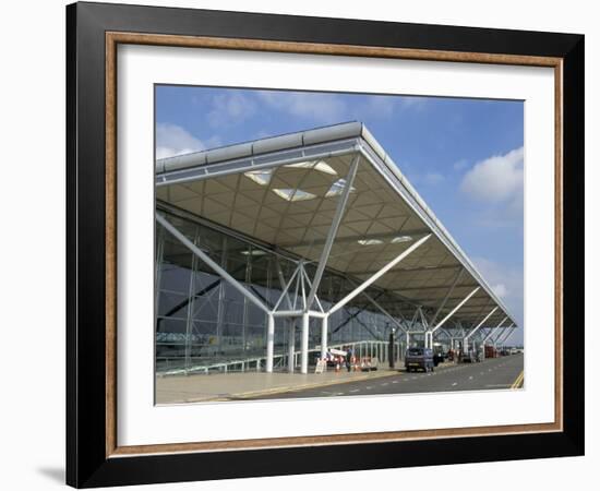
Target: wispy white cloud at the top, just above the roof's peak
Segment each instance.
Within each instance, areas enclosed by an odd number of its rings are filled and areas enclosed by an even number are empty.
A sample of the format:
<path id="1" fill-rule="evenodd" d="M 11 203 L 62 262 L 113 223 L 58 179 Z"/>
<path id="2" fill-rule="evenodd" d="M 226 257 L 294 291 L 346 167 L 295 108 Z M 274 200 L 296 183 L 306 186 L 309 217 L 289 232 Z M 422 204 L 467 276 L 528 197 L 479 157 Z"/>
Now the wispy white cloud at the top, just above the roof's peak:
<path id="1" fill-rule="evenodd" d="M 335 94 L 261 91 L 257 96 L 273 109 L 319 123 L 336 123 L 348 118 L 346 104 Z"/>

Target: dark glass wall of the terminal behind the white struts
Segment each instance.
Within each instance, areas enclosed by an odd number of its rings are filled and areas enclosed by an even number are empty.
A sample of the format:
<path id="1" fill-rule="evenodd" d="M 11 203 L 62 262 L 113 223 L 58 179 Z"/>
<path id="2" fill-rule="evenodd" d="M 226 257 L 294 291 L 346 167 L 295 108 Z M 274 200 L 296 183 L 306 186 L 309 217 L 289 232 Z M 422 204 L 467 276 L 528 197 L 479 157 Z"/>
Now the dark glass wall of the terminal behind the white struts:
<path id="1" fill-rule="evenodd" d="M 269 309 L 276 304 L 284 289 L 283 282 L 292 276 L 298 258 L 252 243 L 180 212 L 159 207 L 159 213 Z M 315 265 L 308 264 L 305 270 L 312 278 Z M 265 312 L 159 225 L 155 275 L 157 372 L 264 368 Z M 327 310 L 358 283 L 326 270 L 317 292 L 323 308 Z M 400 308 L 401 301 L 388 292 L 370 288 L 367 294 L 392 314 Z M 301 294 L 290 289 L 292 301 L 296 295 Z M 287 363 L 290 322 L 295 321 L 276 318 L 275 370 L 283 370 Z M 383 350 L 392 327 L 389 319 L 361 296 L 329 316 L 328 345 L 380 342 L 370 343 L 364 349 Z M 311 318 L 309 333 L 309 349 L 316 350 L 321 344 L 320 319 Z M 299 324 L 295 346 L 299 350 Z"/>

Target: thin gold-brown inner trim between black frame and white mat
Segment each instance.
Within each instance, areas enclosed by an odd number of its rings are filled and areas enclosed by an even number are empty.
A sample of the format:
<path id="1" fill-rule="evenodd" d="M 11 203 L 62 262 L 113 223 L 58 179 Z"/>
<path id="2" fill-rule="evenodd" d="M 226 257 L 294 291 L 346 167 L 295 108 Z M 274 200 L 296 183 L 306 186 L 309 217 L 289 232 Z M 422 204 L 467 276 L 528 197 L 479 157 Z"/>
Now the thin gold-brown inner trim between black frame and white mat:
<path id="1" fill-rule="evenodd" d="M 395 58 L 554 69 L 554 422 L 435 430 L 289 436 L 218 442 L 119 446 L 117 442 L 117 46 L 119 44 L 236 49 L 272 52 Z M 323 45 L 160 34 L 106 33 L 106 457 L 181 452 L 341 445 L 440 438 L 489 436 L 563 430 L 563 59 L 520 55 L 459 52 L 350 45 Z"/>

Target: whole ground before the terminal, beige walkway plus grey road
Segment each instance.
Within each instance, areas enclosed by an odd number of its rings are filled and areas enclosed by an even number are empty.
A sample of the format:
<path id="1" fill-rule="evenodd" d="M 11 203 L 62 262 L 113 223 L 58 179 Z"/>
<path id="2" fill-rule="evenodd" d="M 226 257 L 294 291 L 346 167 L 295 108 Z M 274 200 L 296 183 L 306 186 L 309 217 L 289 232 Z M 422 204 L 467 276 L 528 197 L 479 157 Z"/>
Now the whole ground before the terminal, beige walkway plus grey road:
<path id="1" fill-rule="evenodd" d="M 523 359 L 512 355 L 472 364 L 444 363 L 430 373 L 380 367 L 372 372 L 157 376 L 156 404 L 519 388 Z"/>

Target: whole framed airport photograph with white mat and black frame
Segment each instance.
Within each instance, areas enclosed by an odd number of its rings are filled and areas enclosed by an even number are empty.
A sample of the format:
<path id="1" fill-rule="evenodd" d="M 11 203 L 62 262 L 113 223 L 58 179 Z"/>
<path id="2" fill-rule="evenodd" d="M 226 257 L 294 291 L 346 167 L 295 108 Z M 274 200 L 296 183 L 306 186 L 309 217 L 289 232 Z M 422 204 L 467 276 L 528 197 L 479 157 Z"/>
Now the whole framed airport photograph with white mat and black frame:
<path id="1" fill-rule="evenodd" d="M 584 36 L 67 8 L 67 481 L 584 453 Z"/>

